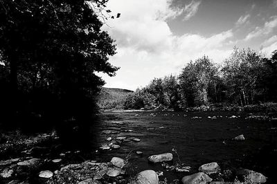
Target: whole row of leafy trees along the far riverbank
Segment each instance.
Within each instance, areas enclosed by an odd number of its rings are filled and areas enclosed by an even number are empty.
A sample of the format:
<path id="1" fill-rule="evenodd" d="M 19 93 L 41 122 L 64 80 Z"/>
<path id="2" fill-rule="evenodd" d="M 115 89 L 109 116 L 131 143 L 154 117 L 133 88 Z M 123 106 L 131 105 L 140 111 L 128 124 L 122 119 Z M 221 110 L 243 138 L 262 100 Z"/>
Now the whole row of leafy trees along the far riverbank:
<path id="1" fill-rule="evenodd" d="M 268 59 L 255 50 L 234 48 L 221 65 L 204 56 L 178 76 L 154 78 L 127 97 L 125 109 L 175 110 L 277 101 L 277 50 Z"/>

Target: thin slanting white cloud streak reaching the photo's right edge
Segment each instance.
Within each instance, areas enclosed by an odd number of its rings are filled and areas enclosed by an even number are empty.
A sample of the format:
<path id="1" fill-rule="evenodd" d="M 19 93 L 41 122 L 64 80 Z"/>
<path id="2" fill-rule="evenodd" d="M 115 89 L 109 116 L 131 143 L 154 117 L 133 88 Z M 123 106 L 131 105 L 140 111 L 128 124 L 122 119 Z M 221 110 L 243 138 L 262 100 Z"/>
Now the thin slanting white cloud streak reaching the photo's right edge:
<path id="1" fill-rule="evenodd" d="M 266 21 L 263 27 L 256 27 L 251 33 L 245 37 L 245 41 L 253 39 L 255 37 L 261 37 L 262 35 L 268 35 L 272 33 L 277 26 L 277 16 L 271 17 L 270 21 Z"/>

